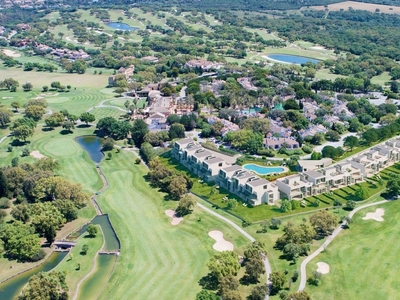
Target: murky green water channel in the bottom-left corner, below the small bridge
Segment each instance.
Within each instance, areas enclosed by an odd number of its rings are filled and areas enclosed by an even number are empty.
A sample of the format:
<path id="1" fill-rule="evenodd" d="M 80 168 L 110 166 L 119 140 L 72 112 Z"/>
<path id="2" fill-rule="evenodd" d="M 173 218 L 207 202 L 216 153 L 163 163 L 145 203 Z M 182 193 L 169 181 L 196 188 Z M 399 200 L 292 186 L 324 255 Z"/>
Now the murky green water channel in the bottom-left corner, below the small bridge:
<path id="1" fill-rule="evenodd" d="M 0 299 L 14 299 L 28 283 L 29 278 L 39 272 L 48 272 L 55 268 L 63 258 L 68 254 L 68 252 L 53 252 L 49 259 L 29 271 L 19 274 L 6 282 L 0 284 Z"/>

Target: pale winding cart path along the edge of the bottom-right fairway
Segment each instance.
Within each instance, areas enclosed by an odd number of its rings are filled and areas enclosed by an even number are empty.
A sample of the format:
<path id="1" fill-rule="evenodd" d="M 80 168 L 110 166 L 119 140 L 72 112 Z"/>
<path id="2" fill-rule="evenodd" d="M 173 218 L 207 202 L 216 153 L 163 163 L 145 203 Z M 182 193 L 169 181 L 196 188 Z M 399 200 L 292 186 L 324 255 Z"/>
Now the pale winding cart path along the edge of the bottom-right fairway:
<path id="1" fill-rule="evenodd" d="M 352 218 L 356 212 L 358 212 L 361 209 L 364 209 L 366 207 L 370 206 L 375 206 L 375 205 L 380 205 L 389 202 L 390 200 L 382 200 L 374 203 L 369 203 L 365 205 L 361 205 L 354 209 L 350 214 L 349 217 Z M 325 248 L 333 241 L 333 239 L 343 230 L 343 225 L 346 225 L 346 223 L 340 224 L 334 231 L 333 233 L 326 239 L 326 241 L 322 244 L 321 247 L 319 247 L 314 253 L 309 255 L 302 263 L 300 266 L 300 286 L 299 286 L 299 291 L 304 290 L 306 287 L 306 282 L 307 282 L 307 272 L 306 272 L 306 267 L 307 264 L 313 260 L 318 254 L 320 254 L 322 251 L 325 250 Z"/>

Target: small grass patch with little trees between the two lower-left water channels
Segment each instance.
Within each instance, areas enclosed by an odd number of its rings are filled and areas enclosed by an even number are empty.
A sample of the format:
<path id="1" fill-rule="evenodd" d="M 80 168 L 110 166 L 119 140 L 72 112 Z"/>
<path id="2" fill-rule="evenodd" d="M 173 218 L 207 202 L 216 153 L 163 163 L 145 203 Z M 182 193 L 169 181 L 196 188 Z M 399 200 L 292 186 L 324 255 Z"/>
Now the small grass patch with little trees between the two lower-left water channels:
<path id="1" fill-rule="evenodd" d="M 68 294 L 70 297 L 75 293 L 78 282 L 88 274 L 94 264 L 94 258 L 103 245 L 103 234 L 98 227 L 96 237 L 92 238 L 87 233 L 84 233 L 76 242 L 76 246 L 71 250 L 70 254 L 59 264 L 56 271 L 66 271 L 66 282 L 68 284 Z M 86 254 L 81 254 L 83 245 L 87 245 L 88 251 Z M 71 256 L 72 254 L 72 256 Z M 78 268 L 78 266 L 80 267 Z"/>

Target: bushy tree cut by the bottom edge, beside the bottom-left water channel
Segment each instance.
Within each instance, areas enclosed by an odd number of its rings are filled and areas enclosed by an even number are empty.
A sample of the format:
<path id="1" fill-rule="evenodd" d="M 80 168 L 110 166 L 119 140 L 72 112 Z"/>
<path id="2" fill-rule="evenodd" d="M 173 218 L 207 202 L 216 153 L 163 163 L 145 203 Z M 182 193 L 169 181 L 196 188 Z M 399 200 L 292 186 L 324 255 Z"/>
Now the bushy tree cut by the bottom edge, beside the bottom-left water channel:
<path id="1" fill-rule="evenodd" d="M 68 299 L 68 286 L 65 282 L 65 276 L 65 271 L 40 272 L 33 275 L 18 299 L 66 300 Z"/>

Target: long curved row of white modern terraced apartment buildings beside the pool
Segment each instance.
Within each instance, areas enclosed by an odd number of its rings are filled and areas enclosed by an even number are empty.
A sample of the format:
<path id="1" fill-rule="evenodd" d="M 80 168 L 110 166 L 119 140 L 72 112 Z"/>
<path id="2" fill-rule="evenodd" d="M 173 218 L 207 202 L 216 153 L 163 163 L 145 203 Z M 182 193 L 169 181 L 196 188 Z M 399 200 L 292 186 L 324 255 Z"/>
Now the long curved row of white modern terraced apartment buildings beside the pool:
<path id="1" fill-rule="evenodd" d="M 214 181 L 250 205 L 271 205 L 279 199 L 299 200 L 363 181 L 400 161 L 400 137 L 336 164 L 330 159 L 300 160 L 300 173 L 275 182 L 226 163 L 217 153 L 204 149 L 191 138 L 176 141 L 171 154 L 200 178 Z"/>

